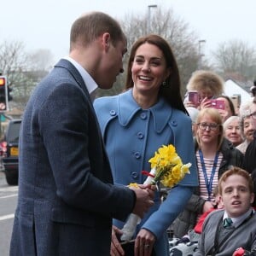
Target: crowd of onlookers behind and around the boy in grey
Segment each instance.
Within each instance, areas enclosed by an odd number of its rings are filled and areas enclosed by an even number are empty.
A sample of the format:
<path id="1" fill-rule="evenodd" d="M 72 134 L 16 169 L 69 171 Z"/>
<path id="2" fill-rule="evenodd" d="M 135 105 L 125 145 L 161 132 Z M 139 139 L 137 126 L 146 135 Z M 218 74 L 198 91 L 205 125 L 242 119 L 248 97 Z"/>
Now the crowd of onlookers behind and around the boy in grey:
<path id="1" fill-rule="evenodd" d="M 224 82 L 217 73 L 204 70 L 193 73 L 187 85 L 188 93 L 184 105 L 191 113 L 192 130 L 195 132 L 199 186 L 195 188 L 195 193 L 183 212 L 172 224 L 174 233 L 174 239 L 171 241 L 172 256 L 192 255 L 198 250 L 201 236 L 195 238 L 194 233 L 191 236 L 191 230 L 195 228 L 198 219 L 214 206 L 212 189 L 218 185 L 220 178 L 230 170 L 231 166 L 243 168 L 250 173 L 256 186 L 254 173 L 256 146 L 253 147 L 253 135 L 255 137 L 256 129 L 256 122 L 253 119 L 253 113 L 255 114 L 256 111 L 255 100 L 253 101 L 252 97 L 251 101 L 245 102 L 236 114 L 230 97 L 223 95 L 223 87 Z M 190 90 L 193 93 L 198 92 L 196 104 L 189 101 Z M 255 99 L 255 94 L 253 96 Z M 220 105 L 219 108 L 216 105 L 212 106 L 213 99 L 224 101 L 224 106 Z M 194 110 L 192 111 L 191 108 Z M 252 189 L 253 187 L 250 191 Z M 250 204 L 255 207 L 254 201 Z M 247 247 L 247 250 L 253 250 L 253 243 L 251 247 Z M 195 253 L 195 255 L 207 255 L 207 253 Z M 225 253 L 225 251 L 218 252 L 217 255 L 230 255 Z"/>

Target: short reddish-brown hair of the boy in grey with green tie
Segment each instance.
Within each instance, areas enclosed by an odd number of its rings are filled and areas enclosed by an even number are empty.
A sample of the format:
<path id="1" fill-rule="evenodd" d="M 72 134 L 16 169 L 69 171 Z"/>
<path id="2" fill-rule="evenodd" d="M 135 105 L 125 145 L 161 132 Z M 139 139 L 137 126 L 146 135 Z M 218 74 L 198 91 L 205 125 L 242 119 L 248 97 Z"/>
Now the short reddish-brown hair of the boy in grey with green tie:
<path id="1" fill-rule="evenodd" d="M 224 172 L 223 175 L 218 180 L 218 191 L 219 191 L 220 195 L 222 195 L 222 192 L 223 192 L 221 184 L 223 182 L 225 182 L 226 179 L 228 177 L 230 177 L 231 175 L 240 175 L 241 177 L 244 177 L 248 182 L 248 188 L 249 188 L 250 193 L 253 193 L 253 179 L 250 176 L 249 172 L 247 172 L 239 167 L 232 166 L 228 171 Z"/>

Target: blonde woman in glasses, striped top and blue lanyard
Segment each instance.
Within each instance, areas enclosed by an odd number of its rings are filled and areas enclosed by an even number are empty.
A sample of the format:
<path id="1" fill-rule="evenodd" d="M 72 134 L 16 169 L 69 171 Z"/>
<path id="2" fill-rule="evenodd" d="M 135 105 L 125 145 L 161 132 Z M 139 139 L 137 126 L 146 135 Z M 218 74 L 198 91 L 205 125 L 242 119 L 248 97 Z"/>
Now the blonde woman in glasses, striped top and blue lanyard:
<path id="1" fill-rule="evenodd" d="M 199 186 L 184 211 L 173 224 L 174 236 L 181 238 L 192 230 L 202 213 L 214 204 L 212 190 L 218 177 L 230 166 L 242 166 L 243 155 L 224 138 L 222 117 L 214 108 L 204 108 L 196 119 L 195 157 Z"/>

